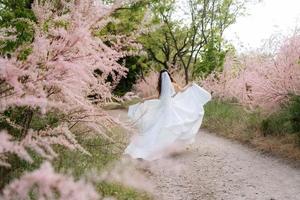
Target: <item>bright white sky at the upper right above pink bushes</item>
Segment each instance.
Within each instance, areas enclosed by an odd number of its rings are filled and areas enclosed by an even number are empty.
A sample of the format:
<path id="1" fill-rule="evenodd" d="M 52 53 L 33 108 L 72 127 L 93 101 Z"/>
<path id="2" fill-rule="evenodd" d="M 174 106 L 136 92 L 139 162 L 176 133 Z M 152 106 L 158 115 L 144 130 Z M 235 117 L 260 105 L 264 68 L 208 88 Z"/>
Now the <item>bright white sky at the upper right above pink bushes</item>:
<path id="1" fill-rule="evenodd" d="M 239 51 L 259 48 L 271 35 L 287 35 L 300 27 L 300 0 L 263 0 L 249 5 L 247 13 L 225 32 Z"/>

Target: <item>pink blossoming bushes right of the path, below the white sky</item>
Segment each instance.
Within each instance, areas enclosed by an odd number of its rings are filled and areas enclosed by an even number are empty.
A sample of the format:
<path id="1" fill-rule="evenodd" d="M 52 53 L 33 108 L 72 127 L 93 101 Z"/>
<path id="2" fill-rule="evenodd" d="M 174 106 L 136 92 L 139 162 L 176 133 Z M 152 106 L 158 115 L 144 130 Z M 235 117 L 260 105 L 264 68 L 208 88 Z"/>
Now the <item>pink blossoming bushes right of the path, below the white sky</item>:
<path id="1" fill-rule="evenodd" d="M 228 55 L 224 70 L 202 85 L 215 97 L 235 99 L 250 108 L 276 110 L 300 95 L 300 35 L 288 38 L 274 55 Z"/>

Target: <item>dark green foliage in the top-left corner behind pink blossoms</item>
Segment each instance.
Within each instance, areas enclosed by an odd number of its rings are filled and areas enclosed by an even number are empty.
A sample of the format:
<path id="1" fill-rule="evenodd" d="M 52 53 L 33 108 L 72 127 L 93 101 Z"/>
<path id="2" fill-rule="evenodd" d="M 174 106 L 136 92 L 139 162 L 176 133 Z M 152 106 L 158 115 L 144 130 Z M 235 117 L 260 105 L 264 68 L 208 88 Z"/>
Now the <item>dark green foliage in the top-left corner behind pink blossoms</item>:
<path id="1" fill-rule="evenodd" d="M 1 55 L 10 55 L 23 44 L 31 43 L 34 30 L 28 20 L 35 21 L 31 10 L 33 0 L 3 0 L 0 2 L 0 28 L 14 27 L 17 31 L 16 41 L 1 41 Z M 26 52 L 21 56 L 24 59 Z"/>

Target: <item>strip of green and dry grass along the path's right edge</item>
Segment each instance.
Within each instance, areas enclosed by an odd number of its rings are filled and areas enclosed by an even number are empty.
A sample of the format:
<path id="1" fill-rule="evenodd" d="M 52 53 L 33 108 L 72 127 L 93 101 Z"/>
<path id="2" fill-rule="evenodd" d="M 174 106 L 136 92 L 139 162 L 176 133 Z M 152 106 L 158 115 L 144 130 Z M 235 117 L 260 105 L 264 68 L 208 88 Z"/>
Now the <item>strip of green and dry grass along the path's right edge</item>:
<path id="1" fill-rule="evenodd" d="M 300 134 L 293 128 L 295 114 L 291 114 L 291 110 L 295 112 L 294 107 L 290 104 L 265 115 L 246 111 L 236 103 L 213 100 L 205 106 L 202 127 L 263 152 L 300 161 Z"/>

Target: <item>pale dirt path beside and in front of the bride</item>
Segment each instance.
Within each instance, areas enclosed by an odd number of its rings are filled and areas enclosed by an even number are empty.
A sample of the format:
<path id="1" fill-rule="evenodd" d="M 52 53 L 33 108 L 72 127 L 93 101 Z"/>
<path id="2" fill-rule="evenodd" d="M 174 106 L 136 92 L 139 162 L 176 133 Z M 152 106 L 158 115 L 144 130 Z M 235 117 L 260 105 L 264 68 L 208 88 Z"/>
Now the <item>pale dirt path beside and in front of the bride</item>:
<path id="1" fill-rule="evenodd" d="M 158 200 L 300 200 L 299 169 L 203 130 L 188 149 L 140 167 Z"/>

